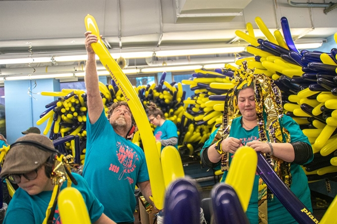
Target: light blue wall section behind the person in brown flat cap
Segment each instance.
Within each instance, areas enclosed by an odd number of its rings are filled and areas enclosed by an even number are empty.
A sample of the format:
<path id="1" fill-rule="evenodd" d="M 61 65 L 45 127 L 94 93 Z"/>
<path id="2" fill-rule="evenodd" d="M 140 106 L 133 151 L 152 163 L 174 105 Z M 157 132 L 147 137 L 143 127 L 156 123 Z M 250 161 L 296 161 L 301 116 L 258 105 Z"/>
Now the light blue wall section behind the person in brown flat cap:
<path id="1" fill-rule="evenodd" d="M 53 96 L 42 96 L 41 91 L 59 91 L 59 81 L 55 79 L 39 79 L 4 81 L 6 134 L 8 144 L 23 136 L 21 132 L 29 127 L 38 127 L 41 133 L 46 124 L 40 126 L 36 122 L 40 114 L 46 110 L 46 105 L 56 98 Z M 35 87 L 35 88 L 34 88 Z M 29 89 L 32 93 L 29 93 Z"/>

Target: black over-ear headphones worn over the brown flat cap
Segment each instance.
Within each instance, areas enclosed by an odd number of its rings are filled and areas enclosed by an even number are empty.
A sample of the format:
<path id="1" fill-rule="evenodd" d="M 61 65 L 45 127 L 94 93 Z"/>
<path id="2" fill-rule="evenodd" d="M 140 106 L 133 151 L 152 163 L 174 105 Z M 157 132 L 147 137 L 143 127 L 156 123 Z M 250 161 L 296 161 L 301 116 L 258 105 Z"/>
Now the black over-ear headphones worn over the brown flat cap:
<path id="1" fill-rule="evenodd" d="M 55 148 L 45 146 L 45 145 L 41 144 L 40 142 L 31 141 L 31 140 L 17 141 L 17 142 L 14 142 L 13 144 L 11 144 L 10 147 L 13 147 L 15 145 L 31 145 L 31 146 L 34 146 L 34 147 L 36 147 L 38 149 L 41 149 L 43 151 L 51 152 L 52 155 L 47 159 L 47 161 L 46 161 L 47 166 L 45 166 L 46 176 L 48 178 L 51 178 L 52 172 L 53 172 L 54 159 L 56 158 L 57 155 L 60 155 L 59 151 L 57 151 Z"/>

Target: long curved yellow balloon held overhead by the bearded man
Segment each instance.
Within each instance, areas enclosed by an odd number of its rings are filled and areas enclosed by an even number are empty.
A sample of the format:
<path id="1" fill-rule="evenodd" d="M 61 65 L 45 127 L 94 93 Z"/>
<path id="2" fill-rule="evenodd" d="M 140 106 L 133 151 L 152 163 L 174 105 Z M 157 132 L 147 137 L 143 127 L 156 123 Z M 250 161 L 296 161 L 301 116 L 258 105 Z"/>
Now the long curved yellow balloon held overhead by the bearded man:
<path id="1" fill-rule="evenodd" d="M 133 117 L 139 127 L 139 133 L 142 139 L 147 139 L 143 142 L 146 163 L 149 170 L 149 177 L 151 181 L 152 195 L 156 207 L 161 210 L 164 208 L 165 184 L 163 177 L 163 170 L 157 152 L 157 145 L 150 127 L 150 123 L 146 116 L 145 110 L 140 102 L 140 99 L 133 89 L 131 83 L 126 78 L 125 74 L 112 58 L 109 50 L 104 45 L 100 32 L 93 16 L 87 15 L 84 19 L 87 31 L 98 38 L 97 43 L 93 43 L 95 53 L 99 56 L 100 61 L 110 73 L 112 80 L 116 83 L 119 90 L 123 93 L 126 102 L 128 103 Z"/>

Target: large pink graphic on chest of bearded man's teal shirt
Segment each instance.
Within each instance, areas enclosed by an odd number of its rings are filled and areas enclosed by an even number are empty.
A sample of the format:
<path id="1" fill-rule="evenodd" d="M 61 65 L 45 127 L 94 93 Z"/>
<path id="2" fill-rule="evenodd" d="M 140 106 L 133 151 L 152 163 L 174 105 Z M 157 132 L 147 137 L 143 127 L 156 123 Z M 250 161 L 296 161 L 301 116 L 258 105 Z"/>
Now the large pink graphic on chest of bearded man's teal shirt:
<path id="1" fill-rule="evenodd" d="M 126 173 L 130 174 L 135 170 L 136 161 L 139 161 L 139 158 L 138 158 L 138 154 L 136 153 L 136 151 L 133 150 L 133 148 L 131 148 L 130 146 L 122 144 L 119 141 L 117 141 L 116 146 L 117 146 L 116 155 L 117 155 L 118 161 L 120 162 L 123 168 L 123 171 L 121 172 L 118 178 L 120 180 L 122 179 L 124 174 Z M 134 181 L 130 177 L 126 177 L 125 179 L 127 179 L 130 184 L 133 183 Z"/>

